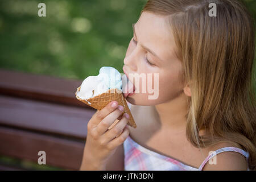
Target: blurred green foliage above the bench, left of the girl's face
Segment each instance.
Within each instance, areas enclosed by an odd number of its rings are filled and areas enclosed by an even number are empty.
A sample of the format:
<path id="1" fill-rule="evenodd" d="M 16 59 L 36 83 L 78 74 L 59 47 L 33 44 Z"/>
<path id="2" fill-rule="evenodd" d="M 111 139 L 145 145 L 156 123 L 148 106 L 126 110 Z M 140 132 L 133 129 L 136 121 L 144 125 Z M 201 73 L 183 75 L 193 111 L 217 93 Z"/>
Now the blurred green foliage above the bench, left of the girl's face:
<path id="1" fill-rule="evenodd" d="M 46 17 L 38 4 L 46 3 Z M 58 77 L 122 72 L 146 0 L 0 1 L 0 68 Z"/>

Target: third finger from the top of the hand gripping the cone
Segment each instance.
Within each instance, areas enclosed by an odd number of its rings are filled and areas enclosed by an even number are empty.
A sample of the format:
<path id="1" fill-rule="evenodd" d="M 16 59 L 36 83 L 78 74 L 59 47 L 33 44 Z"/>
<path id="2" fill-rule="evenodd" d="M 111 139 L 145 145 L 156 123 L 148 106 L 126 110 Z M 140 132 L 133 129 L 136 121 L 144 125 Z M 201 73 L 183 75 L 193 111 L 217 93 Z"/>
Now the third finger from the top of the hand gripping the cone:
<path id="1" fill-rule="evenodd" d="M 110 140 L 113 140 L 115 137 L 118 137 L 123 132 L 123 129 L 125 129 L 125 126 L 128 123 L 129 115 L 127 113 L 123 114 L 122 119 L 110 130 L 106 131 L 106 133 L 103 135 L 106 139 L 106 142 L 110 142 Z"/>

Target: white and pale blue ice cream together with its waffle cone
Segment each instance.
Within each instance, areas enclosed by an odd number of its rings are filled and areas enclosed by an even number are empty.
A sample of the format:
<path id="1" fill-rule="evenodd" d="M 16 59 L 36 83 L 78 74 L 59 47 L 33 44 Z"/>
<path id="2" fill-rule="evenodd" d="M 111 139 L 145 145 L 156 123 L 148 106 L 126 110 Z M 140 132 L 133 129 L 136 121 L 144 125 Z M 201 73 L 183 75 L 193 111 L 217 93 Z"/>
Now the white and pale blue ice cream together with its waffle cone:
<path id="1" fill-rule="evenodd" d="M 129 114 L 128 125 L 135 128 L 136 123 L 125 100 L 132 90 L 133 84 L 129 83 L 126 75 L 121 75 L 112 67 L 102 67 L 99 75 L 89 76 L 82 81 L 77 88 L 76 98 L 97 110 L 103 109 L 111 101 L 117 101 L 118 105 L 123 106 L 123 114 Z"/>

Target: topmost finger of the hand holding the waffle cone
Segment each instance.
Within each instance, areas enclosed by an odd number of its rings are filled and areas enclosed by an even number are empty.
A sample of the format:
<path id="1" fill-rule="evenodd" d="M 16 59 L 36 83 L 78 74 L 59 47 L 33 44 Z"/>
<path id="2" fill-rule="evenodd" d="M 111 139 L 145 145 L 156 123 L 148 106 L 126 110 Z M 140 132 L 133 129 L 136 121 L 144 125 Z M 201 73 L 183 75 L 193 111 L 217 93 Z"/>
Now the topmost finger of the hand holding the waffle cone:
<path id="1" fill-rule="evenodd" d="M 95 114 L 93 114 L 90 125 L 94 128 L 100 123 L 107 115 L 112 113 L 118 107 L 117 101 L 112 101 L 108 105 L 106 105 L 103 109 L 97 110 Z"/>

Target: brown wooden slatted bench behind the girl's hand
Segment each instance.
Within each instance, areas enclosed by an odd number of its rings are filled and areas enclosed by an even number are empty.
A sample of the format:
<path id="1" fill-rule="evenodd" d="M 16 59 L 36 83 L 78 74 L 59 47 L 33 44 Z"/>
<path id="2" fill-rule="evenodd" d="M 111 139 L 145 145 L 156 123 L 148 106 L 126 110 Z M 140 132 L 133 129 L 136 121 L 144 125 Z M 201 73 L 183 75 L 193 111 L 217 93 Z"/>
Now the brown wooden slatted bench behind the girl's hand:
<path id="1" fill-rule="evenodd" d="M 46 165 L 79 169 L 96 111 L 76 99 L 81 82 L 0 69 L 0 155 L 38 163 L 45 151 Z"/>

